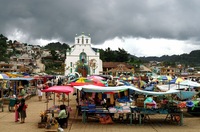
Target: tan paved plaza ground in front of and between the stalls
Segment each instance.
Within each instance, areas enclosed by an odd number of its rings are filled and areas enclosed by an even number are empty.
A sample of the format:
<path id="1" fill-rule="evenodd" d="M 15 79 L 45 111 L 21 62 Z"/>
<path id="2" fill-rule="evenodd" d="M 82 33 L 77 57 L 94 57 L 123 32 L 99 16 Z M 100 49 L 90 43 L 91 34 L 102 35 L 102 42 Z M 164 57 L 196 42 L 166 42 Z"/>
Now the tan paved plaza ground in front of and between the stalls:
<path id="1" fill-rule="evenodd" d="M 137 121 L 133 121 L 130 125 L 128 122 L 118 121 L 113 124 L 100 124 L 97 120 L 88 120 L 82 123 L 82 117 L 77 115 L 75 96 L 70 95 L 70 106 L 72 112 L 70 114 L 68 128 L 65 132 L 200 132 L 200 117 L 194 117 L 184 114 L 183 125 L 179 126 L 175 123 L 165 122 L 166 115 L 151 115 L 150 120 L 139 125 Z M 1 132 L 45 132 L 47 129 L 38 128 L 40 122 L 40 112 L 53 105 L 53 100 L 47 104 L 43 97 L 43 101 L 38 101 L 37 96 L 27 100 L 27 118 L 24 124 L 14 121 L 14 112 L 8 111 L 8 106 L 4 105 L 4 112 L 0 112 L 0 131 Z M 59 104 L 59 102 L 55 102 Z M 61 104 L 61 103 L 60 103 Z M 67 104 L 67 103 L 66 103 Z"/>

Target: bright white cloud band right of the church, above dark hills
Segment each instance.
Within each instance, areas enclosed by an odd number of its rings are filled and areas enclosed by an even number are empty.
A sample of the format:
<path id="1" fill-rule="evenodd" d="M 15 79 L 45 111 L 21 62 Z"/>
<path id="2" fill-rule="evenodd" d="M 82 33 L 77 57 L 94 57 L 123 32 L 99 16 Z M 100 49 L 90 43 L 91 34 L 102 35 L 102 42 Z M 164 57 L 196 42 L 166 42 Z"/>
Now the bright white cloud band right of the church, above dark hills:
<path id="1" fill-rule="evenodd" d="M 145 39 L 145 38 L 114 38 L 105 41 L 102 45 L 92 45 L 92 47 L 112 50 L 123 48 L 128 53 L 137 57 L 142 56 L 162 56 L 162 55 L 180 55 L 190 53 L 192 50 L 199 49 L 199 45 L 194 45 L 188 41 L 170 40 L 170 39 Z"/>

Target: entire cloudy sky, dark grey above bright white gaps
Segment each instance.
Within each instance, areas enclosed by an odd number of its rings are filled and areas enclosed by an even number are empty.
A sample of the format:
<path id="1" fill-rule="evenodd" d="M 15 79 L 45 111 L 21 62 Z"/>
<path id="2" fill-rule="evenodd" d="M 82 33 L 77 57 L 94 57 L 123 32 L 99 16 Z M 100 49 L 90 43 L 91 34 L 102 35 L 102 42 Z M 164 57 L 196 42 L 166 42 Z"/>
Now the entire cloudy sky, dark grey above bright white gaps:
<path id="1" fill-rule="evenodd" d="M 162 56 L 200 49 L 199 0 L 0 0 L 0 33 L 44 46 L 74 43 L 132 55 Z"/>

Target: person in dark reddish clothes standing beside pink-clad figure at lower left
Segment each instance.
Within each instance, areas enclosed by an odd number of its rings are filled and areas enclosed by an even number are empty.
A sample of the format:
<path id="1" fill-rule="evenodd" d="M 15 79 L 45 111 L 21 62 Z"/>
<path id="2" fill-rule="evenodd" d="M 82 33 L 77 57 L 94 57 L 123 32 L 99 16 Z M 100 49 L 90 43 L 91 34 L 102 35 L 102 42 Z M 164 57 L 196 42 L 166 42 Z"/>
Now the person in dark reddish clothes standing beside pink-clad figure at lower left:
<path id="1" fill-rule="evenodd" d="M 17 111 L 20 113 L 20 118 L 21 118 L 21 122 L 20 123 L 25 123 L 26 108 L 27 108 L 27 105 L 25 104 L 25 99 L 22 98 L 21 102 L 19 104 L 19 108 L 17 109 Z"/>

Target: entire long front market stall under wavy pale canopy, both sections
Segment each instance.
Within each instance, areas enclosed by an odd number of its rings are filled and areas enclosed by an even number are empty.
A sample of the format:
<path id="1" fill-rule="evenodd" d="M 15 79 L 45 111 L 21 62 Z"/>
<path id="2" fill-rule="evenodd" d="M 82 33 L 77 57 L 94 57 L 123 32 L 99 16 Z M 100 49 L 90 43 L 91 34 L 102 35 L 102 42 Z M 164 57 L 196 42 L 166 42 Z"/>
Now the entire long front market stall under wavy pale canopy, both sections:
<path id="1" fill-rule="evenodd" d="M 176 104 L 177 111 L 173 112 L 171 111 L 171 107 L 165 107 L 167 104 L 165 104 L 165 106 L 163 107 L 157 107 L 156 104 L 156 107 L 153 107 L 153 105 L 150 102 L 145 103 L 145 96 L 147 95 L 156 97 L 177 94 L 179 93 L 178 90 L 169 90 L 167 92 L 152 92 L 140 90 L 133 86 L 99 87 L 94 85 L 75 86 L 74 88 L 80 90 L 81 94 L 85 94 L 84 96 L 80 95 L 81 100 L 78 102 L 78 105 L 80 105 L 81 107 L 82 121 L 84 123 L 90 115 L 99 117 L 99 115 L 104 114 L 112 116 L 112 120 L 128 119 L 129 123 L 132 124 L 133 115 L 137 113 L 139 118 L 139 124 L 141 124 L 142 115 L 162 113 L 166 114 L 166 116 L 178 115 L 180 117 L 179 124 L 183 124 L 183 116 L 181 110 L 178 108 L 178 103 Z M 143 96 L 143 98 L 137 97 L 131 99 L 129 95 L 129 90 L 134 90 L 134 94 L 145 96 Z M 120 96 L 119 93 L 123 93 L 123 95 Z M 105 94 L 109 95 L 109 100 L 108 97 L 102 97 Z M 106 105 L 101 103 L 101 106 L 99 107 L 98 105 L 96 105 L 95 101 L 92 101 L 96 99 L 96 96 L 98 96 L 98 98 L 100 98 L 101 101 L 106 99 L 106 101 L 109 101 L 109 103 L 107 102 Z M 159 103 L 160 102 L 158 102 L 158 105 L 160 105 Z"/>

